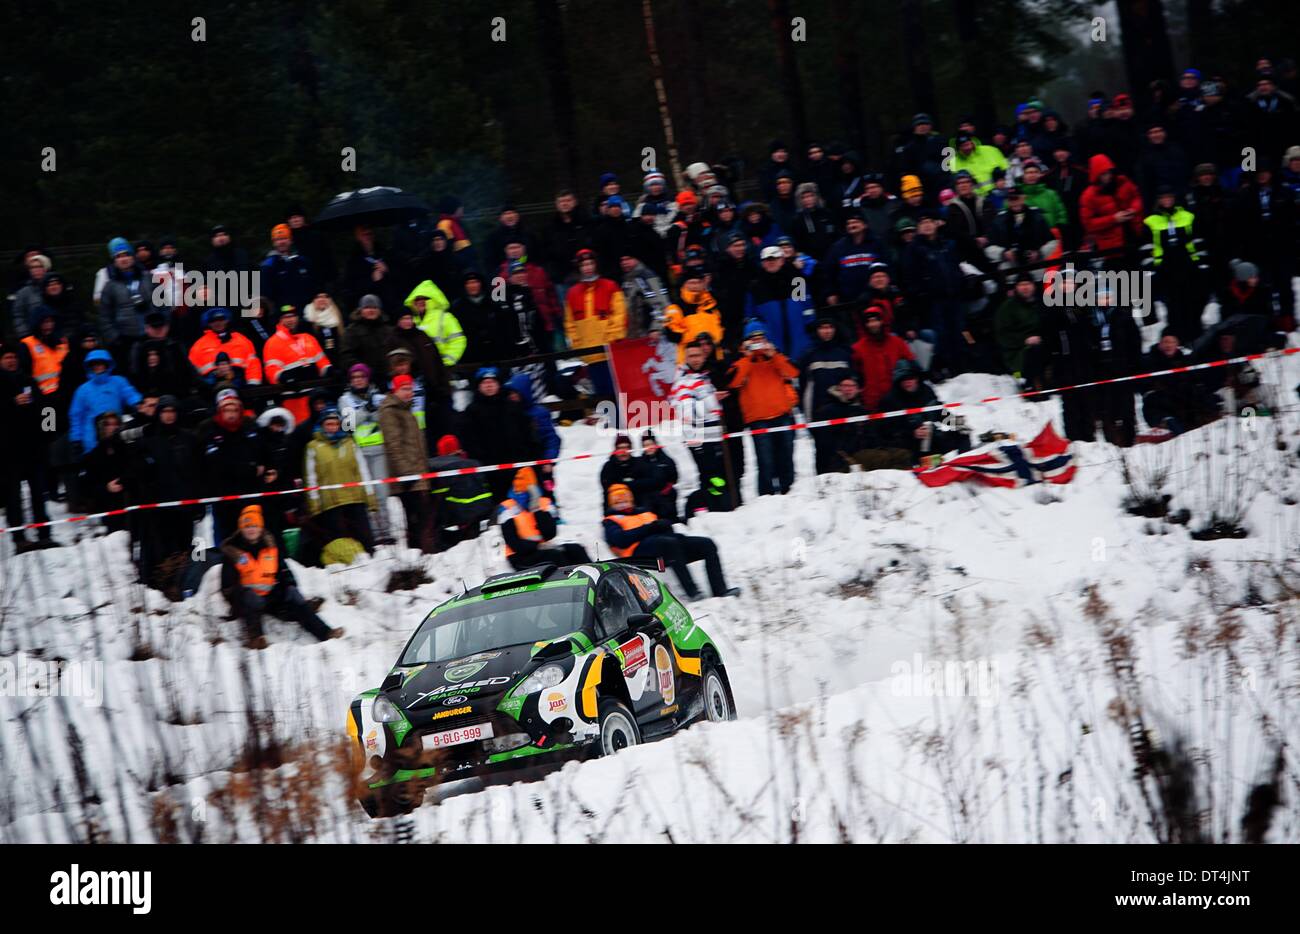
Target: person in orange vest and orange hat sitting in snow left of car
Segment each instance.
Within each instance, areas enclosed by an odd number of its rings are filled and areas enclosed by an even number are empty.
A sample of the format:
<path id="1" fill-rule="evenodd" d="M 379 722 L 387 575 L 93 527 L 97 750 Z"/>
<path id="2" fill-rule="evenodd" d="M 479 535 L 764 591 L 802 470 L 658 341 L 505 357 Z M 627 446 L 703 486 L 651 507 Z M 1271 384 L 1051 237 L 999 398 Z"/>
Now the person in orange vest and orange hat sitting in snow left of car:
<path id="1" fill-rule="evenodd" d="M 303 600 L 294 572 L 265 528 L 261 506 L 244 506 L 234 535 L 221 542 L 221 593 L 231 613 L 243 620 L 250 649 L 266 648 L 264 611 L 298 623 L 321 641 L 343 635 L 342 628 L 330 628 Z"/>

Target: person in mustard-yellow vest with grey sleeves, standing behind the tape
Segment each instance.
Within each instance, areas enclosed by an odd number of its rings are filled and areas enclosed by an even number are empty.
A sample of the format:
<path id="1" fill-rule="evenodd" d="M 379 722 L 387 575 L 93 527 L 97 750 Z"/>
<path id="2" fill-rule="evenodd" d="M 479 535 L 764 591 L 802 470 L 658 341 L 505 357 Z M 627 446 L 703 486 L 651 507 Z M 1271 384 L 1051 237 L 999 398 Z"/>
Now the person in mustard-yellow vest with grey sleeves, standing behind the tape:
<path id="1" fill-rule="evenodd" d="M 303 453 L 303 480 L 307 487 L 307 511 L 313 519 L 321 548 L 335 539 L 352 539 L 374 554 L 374 533 L 367 510 L 377 513 L 380 498 L 369 485 L 370 472 L 352 433 L 343 425 L 337 408 L 329 407 L 320 416 L 320 428 L 312 434 Z M 342 489 L 312 489 L 335 484 L 361 484 Z"/>

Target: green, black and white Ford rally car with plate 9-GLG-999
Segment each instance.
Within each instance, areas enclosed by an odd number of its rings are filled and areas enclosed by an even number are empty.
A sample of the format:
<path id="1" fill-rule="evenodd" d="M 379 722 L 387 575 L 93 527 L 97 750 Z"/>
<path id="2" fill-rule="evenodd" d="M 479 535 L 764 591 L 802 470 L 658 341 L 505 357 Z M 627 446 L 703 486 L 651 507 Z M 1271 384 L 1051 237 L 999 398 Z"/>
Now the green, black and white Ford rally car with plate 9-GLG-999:
<path id="1" fill-rule="evenodd" d="M 734 719 L 718 644 L 650 562 L 502 574 L 425 617 L 352 700 L 358 799 L 404 813 L 441 782 L 610 756 Z"/>

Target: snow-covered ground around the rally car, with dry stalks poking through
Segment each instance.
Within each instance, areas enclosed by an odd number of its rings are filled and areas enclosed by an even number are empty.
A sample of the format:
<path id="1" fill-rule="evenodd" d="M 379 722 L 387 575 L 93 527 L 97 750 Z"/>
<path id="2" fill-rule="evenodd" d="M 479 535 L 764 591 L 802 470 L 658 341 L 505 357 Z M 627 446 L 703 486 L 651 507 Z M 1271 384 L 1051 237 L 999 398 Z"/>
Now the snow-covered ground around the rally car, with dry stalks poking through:
<path id="1" fill-rule="evenodd" d="M 1265 377 L 1290 399 L 1300 367 Z M 967 375 L 940 392 L 1014 388 Z M 963 411 L 1026 440 L 1060 425 L 1057 401 Z M 0 542 L 0 662 L 87 662 L 92 695 L 3 691 L 0 842 L 1154 842 L 1171 774 L 1191 777 L 1200 831 L 1238 840 L 1251 788 L 1300 741 L 1297 427 L 1288 410 L 1134 449 L 1135 484 L 1187 524 L 1127 514 L 1126 458 L 1105 444 L 1074 446 L 1069 485 L 930 489 L 815 477 L 801 436 L 789 496 L 692 523 L 744 589 L 693 607 L 723 643 L 737 722 L 532 783 L 463 783 L 393 821 L 346 794 L 347 702 L 430 606 L 506 568 L 495 533 L 422 561 L 415 591 L 385 591 L 421 563 L 394 549 L 295 568 L 347 635 L 269 620 L 264 652 L 239 647 L 213 574 L 181 605 L 130 584 L 125 533 L 17 558 Z M 562 433 L 566 454 L 611 445 Z M 689 489 L 685 449 L 670 451 Z M 593 554 L 601 463 L 558 468 L 562 536 Z M 1249 535 L 1193 540 L 1234 498 Z M 1269 839 L 1296 842 L 1294 766 L 1284 783 Z"/>

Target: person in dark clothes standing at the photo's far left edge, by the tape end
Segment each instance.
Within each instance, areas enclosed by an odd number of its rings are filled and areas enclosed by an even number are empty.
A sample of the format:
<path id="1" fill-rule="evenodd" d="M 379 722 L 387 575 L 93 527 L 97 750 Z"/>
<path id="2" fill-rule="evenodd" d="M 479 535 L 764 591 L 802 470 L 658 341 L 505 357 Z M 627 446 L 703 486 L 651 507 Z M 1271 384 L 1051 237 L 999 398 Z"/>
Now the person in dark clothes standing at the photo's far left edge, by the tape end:
<path id="1" fill-rule="evenodd" d="M 22 484 L 27 484 L 31 497 L 31 522 L 49 518 L 46 514 L 48 441 L 42 431 L 44 406 L 32 382 L 31 373 L 22 366 L 18 346 L 0 345 L 0 437 L 10 445 L 0 459 L 0 498 L 4 500 L 5 523 L 10 527 L 27 522 L 22 509 Z M 35 542 L 29 541 L 26 532 L 10 535 L 18 554 L 52 544 L 48 527 L 36 531 Z"/>

